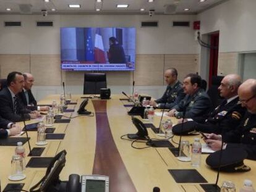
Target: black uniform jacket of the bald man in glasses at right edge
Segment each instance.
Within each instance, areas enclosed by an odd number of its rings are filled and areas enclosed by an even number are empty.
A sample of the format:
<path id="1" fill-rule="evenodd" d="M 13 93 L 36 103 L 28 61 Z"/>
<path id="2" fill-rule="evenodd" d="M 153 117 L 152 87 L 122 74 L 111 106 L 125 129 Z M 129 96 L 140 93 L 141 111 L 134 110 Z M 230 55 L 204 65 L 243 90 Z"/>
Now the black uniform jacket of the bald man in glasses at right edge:
<path id="1" fill-rule="evenodd" d="M 246 112 L 236 130 L 223 135 L 223 141 L 228 143 L 227 148 L 242 148 L 247 151 L 247 159 L 256 160 L 256 114 Z"/>

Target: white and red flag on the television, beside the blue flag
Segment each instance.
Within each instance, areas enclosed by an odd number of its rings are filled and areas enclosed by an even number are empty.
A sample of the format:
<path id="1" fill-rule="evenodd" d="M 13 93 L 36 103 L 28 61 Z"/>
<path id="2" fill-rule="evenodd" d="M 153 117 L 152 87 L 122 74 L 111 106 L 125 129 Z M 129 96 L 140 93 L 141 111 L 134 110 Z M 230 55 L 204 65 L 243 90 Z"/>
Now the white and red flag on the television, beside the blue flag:
<path id="1" fill-rule="evenodd" d="M 95 52 L 95 62 L 98 64 L 106 64 L 102 36 L 98 34 L 95 34 L 94 52 Z"/>

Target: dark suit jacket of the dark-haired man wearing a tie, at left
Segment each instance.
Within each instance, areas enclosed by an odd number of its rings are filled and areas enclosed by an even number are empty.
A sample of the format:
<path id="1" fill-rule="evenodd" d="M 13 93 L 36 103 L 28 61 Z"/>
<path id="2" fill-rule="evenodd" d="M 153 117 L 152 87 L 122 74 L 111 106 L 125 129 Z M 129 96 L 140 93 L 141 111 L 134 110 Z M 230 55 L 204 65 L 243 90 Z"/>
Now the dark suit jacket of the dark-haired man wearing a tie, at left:
<path id="1" fill-rule="evenodd" d="M 25 106 L 20 101 L 19 96 L 17 96 L 17 114 L 14 113 L 14 105 L 12 102 L 12 95 L 8 88 L 4 88 L 0 91 L 0 115 L 7 120 L 11 120 L 12 122 L 20 122 L 22 121 L 22 115 L 24 114 L 24 119 L 29 120 L 31 111 L 25 109 Z"/>

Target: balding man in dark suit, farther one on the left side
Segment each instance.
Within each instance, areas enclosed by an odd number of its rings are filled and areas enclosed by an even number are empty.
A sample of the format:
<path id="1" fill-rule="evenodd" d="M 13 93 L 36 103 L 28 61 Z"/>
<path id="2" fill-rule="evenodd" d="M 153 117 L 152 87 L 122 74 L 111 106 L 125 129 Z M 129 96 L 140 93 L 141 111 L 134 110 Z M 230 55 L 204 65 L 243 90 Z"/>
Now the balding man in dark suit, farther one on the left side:
<path id="1" fill-rule="evenodd" d="M 24 106 L 27 106 L 27 109 L 32 111 L 48 111 L 48 106 L 37 106 L 36 99 L 34 98 L 31 88 L 34 84 L 34 77 L 30 73 L 23 73 L 24 77 L 24 87 L 23 90 L 18 93 Z"/>

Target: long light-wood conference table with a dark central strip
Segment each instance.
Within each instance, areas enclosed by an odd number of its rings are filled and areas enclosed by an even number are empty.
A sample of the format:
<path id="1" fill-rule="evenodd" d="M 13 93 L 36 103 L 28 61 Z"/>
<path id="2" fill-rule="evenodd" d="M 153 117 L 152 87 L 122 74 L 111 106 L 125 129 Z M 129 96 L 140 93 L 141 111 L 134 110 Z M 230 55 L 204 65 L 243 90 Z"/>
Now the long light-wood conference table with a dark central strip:
<path id="1" fill-rule="evenodd" d="M 168 170 L 171 169 L 196 169 L 208 183 L 215 183 L 216 170 L 210 169 L 205 163 L 208 154 L 202 154 L 200 167 L 192 167 L 190 162 L 178 161 L 168 148 L 145 148 L 134 149 L 132 141 L 122 140 L 121 136 L 127 133 L 136 133 L 137 129 L 132 123 L 131 116 L 127 115 L 131 104 L 124 101 L 122 95 L 112 95 L 111 99 L 101 100 L 99 98 L 89 99 L 85 109 L 93 112 L 93 115 L 78 115 L 77 109 L 85 95 L 72 95 L 73 104 L 67 109 L 74 112 L 66 112 L 62 117 L 71 117 L 70 123 L 54 123 L 54 133 L 65 133 L 63 140 L 47 140 L 42 157 L 54 157 L 58 152 L 66 149 L 66 165 L 60 174 L 62 181 L 68 180 L 69 175 L 108 175 L 109 188 L 111 192 L 152 191 L 158 186 L 161 191 L 203 191 L 200 183 L 176 183 Z M 39 104 L 51 104 L 53 100 L 59 102 L 59 95 L 50 95 L 41 100 Z M 159 109 L 157 112 L 161 112 Z M 142 120 L 139 116 L 138 118 Z M 159 126 L 160 116 L 153 120 L 155 127 Z M 163 117 L 163 120 L 170 117 Z M 177 119 L 171 118 L 173 123 Z M 26 123 L 35 123 L 30 120 Z M 145 122 L 148 123 L 148 122 Z M 23 123 L 20 122 L 23 126 Z M 163 139 L 151 128 L 148 128 L 150 138 Z M 28 131 L 30 143 L 36 147 L 36 131 Z M 25 136 L 25 135 L 23 135 Z M 193 142 L 195 136 L 183 136 L 182 140 Z M 124 136 L 126 138 L 126 136 Z M 174 136 L 174 146 L 177 147 L 179 136 Z M 201 140 L 202 141 L 202 140 Z M 202 141 L 203 143 L 203 141 Z M 23 145 L 28 154 L 28 143 Z M 147 147 L 145 143 L 134 143 L 137 148 Z M 11 158 L 15 146 L 0 146 L 0 178 L 2 189 L 7 183 L 15 183 L 8 180 L 11 173 Z M 28 162 L 31 157 L 26 157 Z M 254 161 L 245 160 L 252 170 L 245 173 L 220 173 L 219 186 L 223 181 L 230 180 L 235 183 L 237 190 L 241 188 L 245 178 L 255 181 L 256 164 Z M 16 183 L 25 183 L 23 190 L 29 190 L 44 175 L 46 168 L 26 168 L 26 178 Z M 254 183 L 255 185 L 255 183 Z"/>

